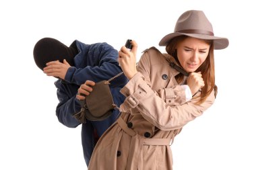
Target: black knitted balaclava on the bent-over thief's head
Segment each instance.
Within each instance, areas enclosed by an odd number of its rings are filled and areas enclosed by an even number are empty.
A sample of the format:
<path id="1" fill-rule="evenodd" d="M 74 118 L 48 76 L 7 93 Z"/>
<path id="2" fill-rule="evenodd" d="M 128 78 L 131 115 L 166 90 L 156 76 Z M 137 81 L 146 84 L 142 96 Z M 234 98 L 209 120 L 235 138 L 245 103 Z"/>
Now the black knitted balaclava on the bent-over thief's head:
<path id="1" fill-rule="evenodd" d="M 42 38 L 36 42 L 33 51 L 34 61 L 41 70 L 46 67 L 47 62 L 53 60 L 63 62 L 66 59 L 69 65 L 74 66 L 73 58 L 76 54 L 78 51 L 75 41 L 68 47 L 54 38 Z"/>

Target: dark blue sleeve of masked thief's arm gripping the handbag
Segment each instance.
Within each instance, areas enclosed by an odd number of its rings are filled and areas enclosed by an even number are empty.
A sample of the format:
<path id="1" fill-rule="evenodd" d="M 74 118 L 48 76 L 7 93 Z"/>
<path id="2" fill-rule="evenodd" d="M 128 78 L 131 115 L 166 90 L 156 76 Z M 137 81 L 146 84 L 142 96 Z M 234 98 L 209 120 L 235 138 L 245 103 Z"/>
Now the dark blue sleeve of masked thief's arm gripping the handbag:
<path id="1" fill-rule="evenodd" d="M 75 95 L 71 95 L 67 87 L 61 85 L 59 81 L 55 82 L 57 87 L 57 97 L 59 99 L 59 104 L 56 108 L 56 116 L 61 124 L 69 127 L 75 128 L 80 122 L 78 122 L 72 115 L 81 110 L 79 100 L 75 98 Z"/>

